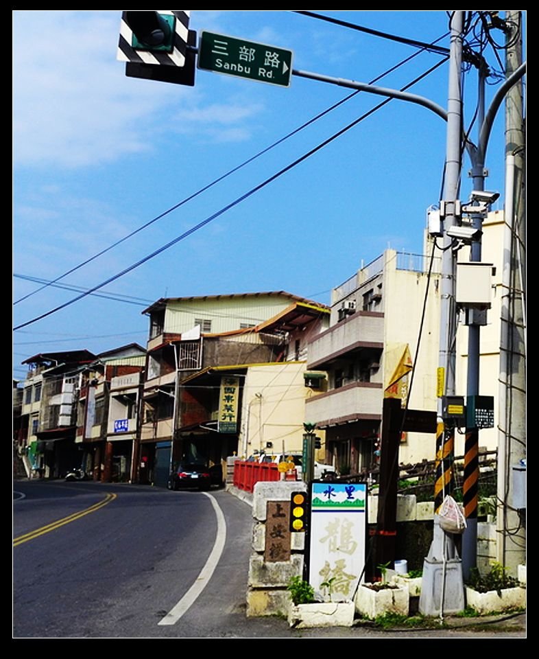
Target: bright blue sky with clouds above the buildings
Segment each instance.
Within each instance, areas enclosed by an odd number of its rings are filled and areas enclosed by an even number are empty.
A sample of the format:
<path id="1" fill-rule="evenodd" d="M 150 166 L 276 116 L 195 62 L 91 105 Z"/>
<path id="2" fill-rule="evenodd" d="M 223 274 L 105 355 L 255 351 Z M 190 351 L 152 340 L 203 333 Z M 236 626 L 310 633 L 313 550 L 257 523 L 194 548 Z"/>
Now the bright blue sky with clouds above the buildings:
<path id="1" fill-rule="evenodd" d="M 416 41 L 443 37 L 438 45 L 449 47 L 444 11 L 316 13 Z M 446 151 L 446 124 L 432 111 L 392 100 L 370 113 L 383 98 L 359 93 L 167 213 L 352 90 L 300 76 L 283 88 L 202 70 L 193 87 L 127 78 L 117 60 L 121 11 L 12 16 L 13 326 L 23 325 L 14 332 L 14 378 L 24 377 L 21 362 L 39 352 L 145 345 L 142 311 L 161 297 L 287 290 L 328 303 L 331 288 L 388 246 L 422 253 Z M 418 49 L 287 10 L 191 10 L 190 28 L 289 49 L 296 70 L 392 89 L 442 59 L 422 51 L 383 76 Z M 501 32 L 496 36 L 503 43 Z M 501 69 L 492 49 L 485 56 Z M 488 86 L 487 104 L 498 86 Z M 476 88 L 472 70 L 464 76 L 466 127 Z M 409 89 L 444 108 L 447 90 L 447 63 Z M 476 126 L 471 135 L 477 141 Z M 502 111 L 486 181 L 502 193 L 502 204 L 503 154 Z M 469 164 L 463 199 L 471 190 Z"/>

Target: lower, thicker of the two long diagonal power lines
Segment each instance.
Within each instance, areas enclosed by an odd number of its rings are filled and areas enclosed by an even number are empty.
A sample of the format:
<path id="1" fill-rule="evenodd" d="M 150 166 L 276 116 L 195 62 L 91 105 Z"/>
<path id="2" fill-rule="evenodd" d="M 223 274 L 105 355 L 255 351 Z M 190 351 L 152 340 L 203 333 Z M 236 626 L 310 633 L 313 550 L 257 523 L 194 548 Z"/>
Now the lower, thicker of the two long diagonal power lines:
<path id="1" fill-rule="evenodd" d="M 446 62 L 446 60 L 447 60 L 447 58 L 444 58 L 443 60 L 440 60 L 440 62 L 437 62 L 437 64 L 435 64 L 433 67 L 431 67 L 430 69 L 428 69 L 427 71 L 422 73 L 420 76 L 418 76 L 417 78 L 415 78 L 414 80 L 409 82 L 407 85 L 405 85 L 402 89 L 400 89 L 400 91 L 405 91 L 406 89 L 409 89 L 409 87 L 416 84 L 416 82 L 418 82 L 419 80 L 422 80 L 423 78 L 428 76 L 435 69 L 438 69 L 438 67 L 440 67 L 442 64 L 444 64 L 444 62 Z M 263 181 L 262 183 L 259 183 L 259 185 L 256 185 L 256 186 L 252 187 L 248 192 L 245 192 L 245 194 L 237 197 L 230 204 L 224 206 L 223 208 L 221 208 L 216 213 L 213 213 L 213 215 L 209 216 L 205 220 L 202 220 L 198 224 L 195 224 L 195 226 L 191 227 L 191 229 L 188 229 L 187 231 L 184 231 L 184 233 L 178 235 L 176 238 L 174 238 L 173 240 L 171 240 L 167 244 L 161 246 L 160 248 L 156 249 L 154 252 L 152 252 L 152 253 L 148 254 L 147 256 L 143 257 L 142 259 L 139 259 L 139 261 L 132 264 L 131 266 L 128 266 L 128 268 L 125 268 L 124 270 L 121 270 L 121 272 L 117 273 L 117 275 L 112 275 L 112 277 L 109 277 L 105 281 L 102 281 L 101 284 L 97 284 L 96 286 L 93 286 L 93 288 L 89 288 L 88 291 L 78 295 L 77 297 L 65 302 L 64 304 L 58 305 L 57 307 L 49 310 L 48 312 L 45 312 L 44 314 L 40 314 L 40 316 L 36 316 L 34 319 L 29 320 L 26 323 L 21 323 L 21 325 L 17 325 L 13 329 L 16 330 L 16 329 L 21 329 L 22 327 L 27 327 L 27 325 L 31 325 L 32 323 L 35 323 L 36 321 L 39 321 L 43 318 L 46 318 L 47 316 L 50 316 L 51 314 L 56 313 L 57 311 L 60 311 L 64 308 L 66 308 L 67 306 L 79 301 L 80 299 L 82 299 L 82 298 L 86 297 L 87 295 L 95 292 L 96 290 L 99 290 L 99 288 L 103 288 L 107 284 L 110 284 L 111 281 L 115 281 L 116 279 L 119 279 L 119 277 L 123 277 L 123 275 L 126 275 L 127 273 L 130 273 L 135 268 L 138 268 L 139 266 L 141 266 L 145 262 L 149 261 L 150 259 L 152 259 L 155 256 L 159 255 L 160 253 L 164 252 L 165 250 L 167 250 L 171 246 L 173 246 L 176 243 L 180 242 L 180 240 L 184 240 L 184 238 L 188 238 L 189 235 L 191 235 L 192 233 L 195 233 L 195 231 L 198 231 L 199 229 L 202 229 L 202 227 L 205 227 L 206 224 L 209 224 L 210 222 L 215 220 L 215 218 L 218 218 L 219 216 L 226 213 L 226 211 L 229 211 L 231 208 L 239 205 L 242 201 L 244 201 L 245 199 L 252 196 L 255 192 L 259 192 L 259 190 L 266 187 L 266 185 L 269 185 L 269 183 L 272 183 L 273 181 L 276 181 L 277 178 L 280 178 L 280 176 L 283 176 L 283 174 L 289 172 L 291 169 L 296 167 L 296 165 L 299 165 L 304 160 L 307 160 L 307 158 L 311 157 L 313 154 L 315 154 L 316 152 L 318 152 L 319 150 L 321 150 L 322 148 L 327 146 L 329 143 L 333 142 L 335 139 L 337 139 L 337 137 L 341 137 L 341 135 L 344 135 L 344 133 L 347 132 L 348 130 L 350 130 L 350 128 L 353 128 L 354 126 L 357 126 L 357 124 L 359 124 L 361 121 L 363 121 L 363 119 L 366 119 L 367 117 L 369 117 L 372 113 L 374 113 L 375 111 L 382 108 L 384 105 L 389 103 L 391 100 L 392 100 L 392 98 L 387 98 L 387 99 L 383 100 L 381 103 L 374 106 L 374 108 L 372 108 L 370 111 L 364 113 L 363 115 L 361 115 L 361 117 L 359 117 L 358 119 L 355 119 L 355 121 L 348 124 L 348 126 L 345 126 L 341 130 L 338 130 L 331 137 L 328 137 L 327 139 L 322 141 L 320 144 L 318 144 L 318 146 L 315 146 L 313 149 L 309 150 L 307 153 L 303 154 L 298 159 L 296 159 L 293 162 L 289 163 L 289 165 L 287 165 L 286 167 L 283 167 L 281 170 L 276 172 L 276 174 L 273 174 L 272 176 L 269 176 L 269 178 L 266 178 L 265 181 Z"/>

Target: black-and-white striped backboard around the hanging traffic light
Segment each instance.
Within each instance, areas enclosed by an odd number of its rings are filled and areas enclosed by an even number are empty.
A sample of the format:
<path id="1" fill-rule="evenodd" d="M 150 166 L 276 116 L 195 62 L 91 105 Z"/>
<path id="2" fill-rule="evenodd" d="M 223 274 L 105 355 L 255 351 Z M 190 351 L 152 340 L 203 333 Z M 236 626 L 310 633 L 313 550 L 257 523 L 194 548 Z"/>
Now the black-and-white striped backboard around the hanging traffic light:
<path id="1" fill-rule="evenodd" d="M 138 64 L 157 64 L 173 67 L 183 67 L 185 64 L 185 53 L 187 51 L 189 35 L 189 14 L 171 10 L 159 10 L 159 14 L 167 14 L 175 17 L 174 21 L 174 43 L 170 53 L 158 51 L 145 51 L 134 49 L 133 32 L 126 21 L 127 12 L 121 14 L 120 38 L 118 43 L 117 59 L 121 62 L 136 62 Z"/>

